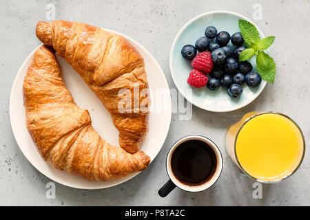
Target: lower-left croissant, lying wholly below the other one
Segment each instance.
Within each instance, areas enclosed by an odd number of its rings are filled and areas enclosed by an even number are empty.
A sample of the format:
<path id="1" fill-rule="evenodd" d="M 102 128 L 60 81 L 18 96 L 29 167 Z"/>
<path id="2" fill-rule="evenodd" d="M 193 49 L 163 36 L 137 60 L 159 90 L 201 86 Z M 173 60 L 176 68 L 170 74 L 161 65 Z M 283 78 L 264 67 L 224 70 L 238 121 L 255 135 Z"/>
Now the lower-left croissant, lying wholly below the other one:
<path id="1" fill-rule="evenodd" d="M 28 131 L 43 159 L 60 170 L 105 181 L 143 170 L 149 157 L 112 146 L 94 131 L 90 114 L 76 106 L 52 48 L 35 52 L 23 82 Z"/>

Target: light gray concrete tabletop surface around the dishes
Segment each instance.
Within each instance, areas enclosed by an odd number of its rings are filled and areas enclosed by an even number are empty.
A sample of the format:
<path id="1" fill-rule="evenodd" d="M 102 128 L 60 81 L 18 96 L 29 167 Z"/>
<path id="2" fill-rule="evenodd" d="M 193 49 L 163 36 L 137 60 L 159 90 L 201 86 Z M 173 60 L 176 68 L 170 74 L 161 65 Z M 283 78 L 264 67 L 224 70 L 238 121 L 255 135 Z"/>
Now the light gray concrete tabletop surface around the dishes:
<path id="1" fill-rule="evenodd" d="M 56 19 L 83 21 L 110 28 L 136 39 L 163 68 L 169 87 L 169 50 L 178 30 L 198 14 L 230 10 L 253 19 L 255 3 L 262 20 L 255 21 L 266 35 L 276 35 L 271 51 L 277 63 L 274 85 L 247 107 L 232 113 L 211 113 L 194 107 L 192 120 L 172 115 L 167 140 L 147 170 L 125 184 L 103 190 L 77 190 L 56 184 L 56 199 L 45 197 L 50 179 L 39 173 L 17 146 L 10 128 L 9 98 L 14 77 L 39 41 L 34 28 L 45 20 L 48 3 L 56 6 Z M 229 124 L 253 110 L 280 111 L 296 120 L 309 145 L 309 1 L 1 1 L 0 6 L 0 205 L 164 205 L 164 206 L 276 206 L 310 205 L 310 152 L 293 177 L 263 186 L 263 198 L 253 199 L 254 181 L 241 175 L 225 152 L 224 134 Z M 23 123 L 23 122 L 21 122 Z M 200 193 L 174 190 L 162 199 L 157 190 L 165 181 L 165 155 L 183 135 L 202 134 L 220 146 L 223 173 L 215 186 Z"/>

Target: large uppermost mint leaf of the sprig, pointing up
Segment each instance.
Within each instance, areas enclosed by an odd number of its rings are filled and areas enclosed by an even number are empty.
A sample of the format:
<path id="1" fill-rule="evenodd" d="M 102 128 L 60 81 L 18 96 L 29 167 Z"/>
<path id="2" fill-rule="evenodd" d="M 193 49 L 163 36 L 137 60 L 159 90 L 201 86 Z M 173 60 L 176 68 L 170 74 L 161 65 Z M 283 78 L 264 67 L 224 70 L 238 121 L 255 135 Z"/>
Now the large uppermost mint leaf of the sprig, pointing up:
<path id="1" fill-rule="evenodd" d="M 239 29 L 242 34 L 243 39 L 245 39 L 245 43 L 250 47 L 257 46 L 260 41 L 260 34 L 255 26 L 249 21 L 239 20 L 238 21 Z"/>

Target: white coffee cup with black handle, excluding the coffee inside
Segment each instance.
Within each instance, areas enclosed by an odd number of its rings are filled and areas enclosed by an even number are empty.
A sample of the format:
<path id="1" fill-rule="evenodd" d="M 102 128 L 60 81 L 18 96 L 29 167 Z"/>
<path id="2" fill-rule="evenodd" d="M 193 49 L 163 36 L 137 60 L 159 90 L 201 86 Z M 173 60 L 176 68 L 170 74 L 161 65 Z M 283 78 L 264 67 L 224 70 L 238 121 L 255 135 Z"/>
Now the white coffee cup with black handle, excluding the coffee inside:
<path id="1" fill-rule="evenodd" d="M 192 185 L 185 183 L 184 181 L 180 181 L 180 179 L 176 177 L 172 169 L 172 155 L 174 155 L 176 148 L 178 148 L 180 144 L 188 142 L 189 140 L 198 140 L 204 142 L 205 143 L 204 146 L 209 148 L 209 150 L 213 151 L 216 157 L 216 166 L 214 172 L 211 173 L 211 175 L 206 179 L 206 181 L 202 181 L 201 184 L 198 185 Z M 170 148 L 166 159 L 166 168 L 170 179 L 160 190 L 158 190 L 158 194 L 161 197 L 166 197 L 169 194 L 169 192 L 171 192 L 172 190 L 174 190 L 174 188 L 176 188 L 176 186 L 188 192 L 200 192 L 203 190 L 207 190 L 208 188 L 213 186 L 220 177 L 220 173 L 222 173 L 223 169 L 223 157 L 222 154 L 220 153 L 220 149 L 218 148 L 218 146 L 216 146 L 216 144 L 212 142 L 209 138 L 201 135 L 188 135 L 182 137 L 180 140 L 174 143 L 172 148 Z"/>

